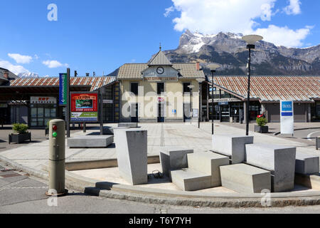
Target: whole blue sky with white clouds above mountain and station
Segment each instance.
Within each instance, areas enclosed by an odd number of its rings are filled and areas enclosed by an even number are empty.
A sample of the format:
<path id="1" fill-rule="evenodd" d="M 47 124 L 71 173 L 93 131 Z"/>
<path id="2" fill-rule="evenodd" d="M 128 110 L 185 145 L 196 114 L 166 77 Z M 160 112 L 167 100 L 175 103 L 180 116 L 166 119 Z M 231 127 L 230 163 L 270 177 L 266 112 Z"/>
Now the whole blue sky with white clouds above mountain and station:
<path id="1" fill-rule="evenodd" d="M 254 3 L 253 3 L 254 2 Z M 48 21 L 49 4 L 58 21 Z M 14 73 L 111 73 L 174 49 L 187 28 L 259 33 L 284 46 L 316 46 L 316 0 L 11 0 L 1 2 L 0 67 Z"/>

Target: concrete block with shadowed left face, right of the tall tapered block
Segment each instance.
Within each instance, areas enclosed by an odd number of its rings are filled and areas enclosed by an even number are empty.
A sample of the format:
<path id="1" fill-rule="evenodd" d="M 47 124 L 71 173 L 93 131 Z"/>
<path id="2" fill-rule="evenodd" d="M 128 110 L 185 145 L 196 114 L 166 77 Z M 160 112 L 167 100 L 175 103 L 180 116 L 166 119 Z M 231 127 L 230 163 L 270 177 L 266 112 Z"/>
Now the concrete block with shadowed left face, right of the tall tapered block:
<path id="1" fill-rule="evenodd" d="M 170 177 L 171 170 L 188 167 L 187 154 L 193 150 L 179 146 L 167 146 L 160 149 L 160 162 L 164 175 Z"/>

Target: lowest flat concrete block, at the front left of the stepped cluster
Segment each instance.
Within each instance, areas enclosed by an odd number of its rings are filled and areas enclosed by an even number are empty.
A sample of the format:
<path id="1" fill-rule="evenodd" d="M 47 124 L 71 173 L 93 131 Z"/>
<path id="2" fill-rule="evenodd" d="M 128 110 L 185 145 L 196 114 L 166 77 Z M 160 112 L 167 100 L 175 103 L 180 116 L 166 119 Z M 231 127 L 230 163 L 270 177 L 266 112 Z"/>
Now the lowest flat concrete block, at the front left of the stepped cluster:
<path id="1" fill-rule="evenodd" d="M 211 177 L 195 170 L 171 171 L 172 182 L 183 191 L 196 191 L 210 188 Z"/>

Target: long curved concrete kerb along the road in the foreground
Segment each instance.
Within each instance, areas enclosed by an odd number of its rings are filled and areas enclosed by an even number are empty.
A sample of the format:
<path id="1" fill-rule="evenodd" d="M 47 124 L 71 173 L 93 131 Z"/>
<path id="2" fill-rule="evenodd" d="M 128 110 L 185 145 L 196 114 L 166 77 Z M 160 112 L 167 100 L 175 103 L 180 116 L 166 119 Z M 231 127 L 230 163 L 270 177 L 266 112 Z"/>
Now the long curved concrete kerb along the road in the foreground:
<path id="1" fill-rule="evenodd" d="M 0 155 L 0 160 L 7 165 L 48 180 L 48 173 L 42 170 L 33 170 Z M 125 199 L 134 202 L 156 204 L 183 205 L 192 207 L 262 207 L 260 194 L 208 194 L 203 192 L 177 192 L 171 190 L 154 190 L 129 185 L 112 185 L 111 190 L 102 190 L 94 187 L 96 180 L 65 172 L 65 186 L 72 190 L 85 192 L 88 195 Z M 271 207 L 319 205 L 320 191 L 316 192 L 282 192 L 271 193 Z"/>

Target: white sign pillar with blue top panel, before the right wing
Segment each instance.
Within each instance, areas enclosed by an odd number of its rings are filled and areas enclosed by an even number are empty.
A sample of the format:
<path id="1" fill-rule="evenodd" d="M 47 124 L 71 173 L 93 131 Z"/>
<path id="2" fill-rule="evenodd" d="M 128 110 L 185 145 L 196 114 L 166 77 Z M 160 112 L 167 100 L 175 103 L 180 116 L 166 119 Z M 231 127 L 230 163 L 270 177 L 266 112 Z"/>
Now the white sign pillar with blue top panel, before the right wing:
<path id="1" fill-rule="evenodd" d="M 281 134 L 294 135 L 294 102 L 280 101 Z"/>

